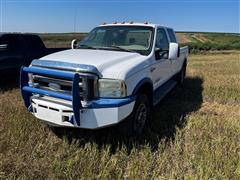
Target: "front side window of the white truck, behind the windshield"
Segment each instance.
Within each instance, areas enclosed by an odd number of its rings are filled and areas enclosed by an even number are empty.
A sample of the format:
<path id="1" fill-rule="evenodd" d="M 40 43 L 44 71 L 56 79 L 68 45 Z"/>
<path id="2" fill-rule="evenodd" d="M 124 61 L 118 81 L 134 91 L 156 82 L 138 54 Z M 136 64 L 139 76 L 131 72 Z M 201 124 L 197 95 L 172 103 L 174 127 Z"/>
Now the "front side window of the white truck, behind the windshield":
<path id="1" fill-rule="evenodd" d="M 167 38 L 167 33 L 164 29 L 159 28 L 157 30 L 157 39 L 156 39 L 156 47 L 162 50 L 169 49 L 169 42 Z"/>

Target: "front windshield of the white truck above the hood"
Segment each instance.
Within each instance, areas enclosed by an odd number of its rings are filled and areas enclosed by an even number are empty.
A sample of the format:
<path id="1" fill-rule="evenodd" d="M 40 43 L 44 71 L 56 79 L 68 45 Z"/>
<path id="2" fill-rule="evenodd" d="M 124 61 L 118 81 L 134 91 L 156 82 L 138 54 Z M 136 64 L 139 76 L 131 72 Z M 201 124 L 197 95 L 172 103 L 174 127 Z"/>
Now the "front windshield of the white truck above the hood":
<path id="1" fill-rule="evenodd" d="M 152 27 L 103 26 L 93 29 L 77 48 L 137 52 L 148 55 L 152 46 Z"/>

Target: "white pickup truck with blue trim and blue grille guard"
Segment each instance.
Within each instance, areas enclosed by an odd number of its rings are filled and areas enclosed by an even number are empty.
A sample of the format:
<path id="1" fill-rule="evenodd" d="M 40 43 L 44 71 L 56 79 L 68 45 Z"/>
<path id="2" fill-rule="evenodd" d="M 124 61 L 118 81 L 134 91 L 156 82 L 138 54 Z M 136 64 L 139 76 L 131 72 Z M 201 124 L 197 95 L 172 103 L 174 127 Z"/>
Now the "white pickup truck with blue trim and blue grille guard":
<path id="1" fill-rule="evenodd" d="M 123 121 L 122 128 L 141 134 L 151 107 L 185 77 L 188 47 L 179 48 L 168 27 L 102 24 L 73 46 L 21 69 L 25 106 L 55 127 Z"/>

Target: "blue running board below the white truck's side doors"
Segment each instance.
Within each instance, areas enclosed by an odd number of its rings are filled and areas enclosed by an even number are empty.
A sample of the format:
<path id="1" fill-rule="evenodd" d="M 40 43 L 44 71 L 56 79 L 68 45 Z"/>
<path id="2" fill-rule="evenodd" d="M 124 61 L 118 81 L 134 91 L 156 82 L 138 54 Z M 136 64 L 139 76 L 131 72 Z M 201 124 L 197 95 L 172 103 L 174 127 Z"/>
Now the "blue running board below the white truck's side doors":
<path id="1" fill-rule="evenodd" d="M 168 82 L 157 88 L 154 91 L 153 95 L 153 105 L 155 106 L 156 104 L 158 104 L 176 85 L 176 81 L 169 80 Z"/>

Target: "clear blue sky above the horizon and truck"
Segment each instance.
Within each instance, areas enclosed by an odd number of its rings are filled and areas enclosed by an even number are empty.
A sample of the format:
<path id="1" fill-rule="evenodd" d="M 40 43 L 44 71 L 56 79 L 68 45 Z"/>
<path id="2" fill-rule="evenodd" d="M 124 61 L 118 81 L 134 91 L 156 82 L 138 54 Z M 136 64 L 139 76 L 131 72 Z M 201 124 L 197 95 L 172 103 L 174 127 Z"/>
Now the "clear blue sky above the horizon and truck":
<path id="1" fill-rule="evenodd" d="M 0 0 L 1 32 L 89 32 L 115 21 L 240 33 L 240 0 Z"/>

